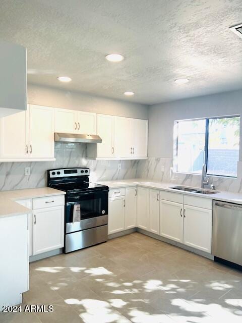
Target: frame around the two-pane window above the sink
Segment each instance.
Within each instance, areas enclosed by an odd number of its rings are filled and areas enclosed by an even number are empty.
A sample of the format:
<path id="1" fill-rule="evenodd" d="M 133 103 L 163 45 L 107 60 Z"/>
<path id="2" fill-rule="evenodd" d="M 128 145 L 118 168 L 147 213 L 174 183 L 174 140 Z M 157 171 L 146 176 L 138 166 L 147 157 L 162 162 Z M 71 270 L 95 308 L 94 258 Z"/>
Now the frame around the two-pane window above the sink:
<path id="1" fill-rule="evenodd" d="M 189 173 L 189 172 L 178 172 L 177 171 L 177 153 L 178 153 L 178 123 L 182 121 L 196 121 L 196 120 L 205 120 L 205 146 L 204 146 L 204 163 L 206 165 L 206 169 L 208 169 L 208 144 L 209 144 L 209 120 L 211 119 L 228 119 L 228 118 L 240 118 L 240 115 L 229 115 L 229 116 L 217 116 L 217 117 L 206 117 L 206 118 L 195 118 L 195 119 L 181 119 L 174 121 L 173 128 L 173 170 L 174 173 L 177 174 L 190 174 L 190 175 L 199 175 L 198 173 Z M 240 120 L 239 120 L 240 121 Z M 239 124 L 239 139 L 240 139 L 240 124 Z M 240 140 L 239 140 L 239 149 L 240 149 Z M 238 171 L 238 169 L 237 169 Z M 215 175 L 215 174 L 207 174 L 212 177 L 223 177 L 223 178 L 237 178 L 238 174 L 236 172 L 236 176 L 227 176 L 227 175 Z"/>

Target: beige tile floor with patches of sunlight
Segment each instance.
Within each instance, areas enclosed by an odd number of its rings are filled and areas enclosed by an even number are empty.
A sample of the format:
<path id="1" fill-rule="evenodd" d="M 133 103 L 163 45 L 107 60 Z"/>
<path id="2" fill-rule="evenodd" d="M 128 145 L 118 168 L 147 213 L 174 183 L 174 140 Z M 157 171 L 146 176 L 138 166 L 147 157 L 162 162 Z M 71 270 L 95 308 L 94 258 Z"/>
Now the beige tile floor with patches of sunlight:
<path id="1" fill-rule="evenodd" d="M 30 264 L 24 304 L 1 323 L 242 321 L 242 273 L 138 232 Z"/>

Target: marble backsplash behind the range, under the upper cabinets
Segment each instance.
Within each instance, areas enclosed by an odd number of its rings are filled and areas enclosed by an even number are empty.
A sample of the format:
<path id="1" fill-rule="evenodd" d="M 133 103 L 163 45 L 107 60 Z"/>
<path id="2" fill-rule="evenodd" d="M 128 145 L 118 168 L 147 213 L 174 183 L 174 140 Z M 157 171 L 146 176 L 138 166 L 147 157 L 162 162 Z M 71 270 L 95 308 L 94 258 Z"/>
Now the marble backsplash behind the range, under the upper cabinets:
<path id="1" fill-rule="evenodd" d="M 92 182 L 136 178 L 138 160 L 90 160 L 86 158 L 86 144 L 55 143 L 54 150 L 55 161 L 0 163 L 0 190 L 44 187 L 46 170 L 64 167 L 89 167 Z M 29 176 L 25 167 L 30 167 Z"/>

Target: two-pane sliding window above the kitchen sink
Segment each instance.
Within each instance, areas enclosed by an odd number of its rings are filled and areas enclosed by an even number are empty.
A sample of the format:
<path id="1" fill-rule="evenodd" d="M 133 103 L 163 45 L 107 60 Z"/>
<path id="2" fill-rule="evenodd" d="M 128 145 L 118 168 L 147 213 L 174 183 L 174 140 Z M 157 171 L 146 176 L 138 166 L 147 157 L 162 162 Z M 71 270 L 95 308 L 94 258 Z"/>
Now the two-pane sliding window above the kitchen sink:
<path id="1" fill-rule="evenodd" d="M 208 175 L 237 176 L 240 117 L 175 122 L 174 170 Z"/>

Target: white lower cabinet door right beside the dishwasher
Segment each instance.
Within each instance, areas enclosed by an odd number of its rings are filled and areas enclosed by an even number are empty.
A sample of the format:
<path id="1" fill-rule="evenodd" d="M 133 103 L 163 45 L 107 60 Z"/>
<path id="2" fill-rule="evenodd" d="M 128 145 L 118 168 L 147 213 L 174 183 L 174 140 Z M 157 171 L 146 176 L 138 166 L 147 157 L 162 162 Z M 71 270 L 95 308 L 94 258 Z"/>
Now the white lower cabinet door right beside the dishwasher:
<path id="1" fill-rule="evenodd" d="M 183 242 L 190 247 L 211 253 L 212 210 L 184 205 Z"/>

